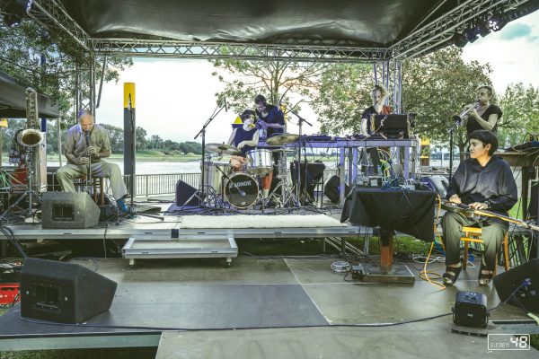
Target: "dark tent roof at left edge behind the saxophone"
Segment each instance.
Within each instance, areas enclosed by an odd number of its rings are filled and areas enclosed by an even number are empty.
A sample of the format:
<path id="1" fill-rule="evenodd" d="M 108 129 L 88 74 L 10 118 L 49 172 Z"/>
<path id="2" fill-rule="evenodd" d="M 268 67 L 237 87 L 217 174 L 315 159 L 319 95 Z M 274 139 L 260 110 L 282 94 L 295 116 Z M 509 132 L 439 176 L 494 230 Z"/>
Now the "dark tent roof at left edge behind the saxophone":
<path id="1" fill-rule="evenodd" d="M 26 117 L 26 88 L 13 77 L 0 72 L 0 117 Z M 57 106 L 53 106 L 49 97 L 38 93 L 40 117 L 57 118 L 60 116 Z"/>

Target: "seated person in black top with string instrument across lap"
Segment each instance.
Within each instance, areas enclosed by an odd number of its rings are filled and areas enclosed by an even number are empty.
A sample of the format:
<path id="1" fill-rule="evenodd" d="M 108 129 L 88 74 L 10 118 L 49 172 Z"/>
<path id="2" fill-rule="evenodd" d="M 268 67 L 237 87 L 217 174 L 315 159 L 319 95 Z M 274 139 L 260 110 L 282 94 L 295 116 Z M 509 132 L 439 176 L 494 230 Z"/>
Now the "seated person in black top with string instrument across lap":
<path id="1" fill-rule="evenodd" d="M 447 189 L 447 198 L 456 204 L 469 205 L 473 209 L 487 209 L 502 215 L 517 203 L 517 184 L 508 162 L 492 154 L 498 149 L 498 139 L 486 130 L 470 134 L 470 159 L 461 162 Z M 442 219 L 443 241 L 446 246 L 446 285 L 454 285 L 462 270 L 460 260 L 461 229 L 478 225 L 482 228 L 485 253 L 479 271 L 479 284 L 488 285 L 496 266 L 496 253 L 508 232 L 508 223 L 499 218 L 481 216 L 467 217 L 446 212 Z"/>

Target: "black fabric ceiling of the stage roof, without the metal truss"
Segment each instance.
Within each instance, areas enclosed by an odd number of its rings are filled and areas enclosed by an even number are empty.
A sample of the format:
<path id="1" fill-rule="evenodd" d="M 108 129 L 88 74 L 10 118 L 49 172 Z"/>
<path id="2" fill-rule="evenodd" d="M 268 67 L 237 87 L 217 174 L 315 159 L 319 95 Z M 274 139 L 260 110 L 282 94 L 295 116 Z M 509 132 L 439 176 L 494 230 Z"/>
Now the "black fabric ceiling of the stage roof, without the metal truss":
<path id="1" fill-rule="evenodd" d="M 92 38 L 385 47 L 438 4 L 432 0 L 62 0 Z M 446 1 L 438 12 L 455 6 Z"/>

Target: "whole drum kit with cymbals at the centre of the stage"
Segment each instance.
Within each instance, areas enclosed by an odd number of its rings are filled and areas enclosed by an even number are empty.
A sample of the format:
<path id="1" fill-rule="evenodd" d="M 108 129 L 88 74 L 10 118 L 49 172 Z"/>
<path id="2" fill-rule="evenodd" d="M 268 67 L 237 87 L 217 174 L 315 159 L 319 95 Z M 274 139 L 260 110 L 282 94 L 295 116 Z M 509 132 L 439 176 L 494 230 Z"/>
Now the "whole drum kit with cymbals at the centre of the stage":
<path id="1" fill-rule="evenodd" d="M 280 207 L 299 207 L 288 180 L 287 153 L 293 150 L 284 147 L 285 144 L 295 143 L 298 138 L 294 134 L 270 137 L 266 144 L 278 148 L 256 148 L 247 152 L 241 171 L 233 171 L 229 162 L 211 161 L 210 157 L 204 162 L 204 186 L 209 194 L 207 204 L 225 206 L 227 203 L 238 209 L 260 205 L 263 209 L 273 202 Z M 230 144 L 206 144 L 205 148 L 209 153 L 218 155 L 214 159 L 222 159 L 224 154 L 235 156 L 241 153 Z M 270 195 L 263 198 L 259 183 L 262 177 L 274 171 L 274 159 L 277 162 L 274 177 L 279 182 Z"/>

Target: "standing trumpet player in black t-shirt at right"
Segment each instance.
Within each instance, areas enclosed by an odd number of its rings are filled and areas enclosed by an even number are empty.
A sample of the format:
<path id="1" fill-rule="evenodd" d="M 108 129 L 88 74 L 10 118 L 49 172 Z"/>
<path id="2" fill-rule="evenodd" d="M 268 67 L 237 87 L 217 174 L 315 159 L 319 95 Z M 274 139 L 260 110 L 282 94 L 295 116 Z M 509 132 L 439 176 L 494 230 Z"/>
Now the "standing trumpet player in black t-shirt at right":
<path id="1" fill-rule="evenodd" d="M 466 136 L 469 138 L 473 131 L 484 129 L 494 133 L 498 132 L 498 121 L 502 112 L 498 106 L 491 104 L 493 90 L 488 85 L 482 85 L 477 89 L 477 101 L 468 105 L 461 114 L 460 126 L 466 127 Z"/>

